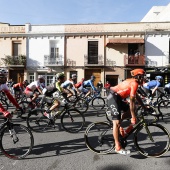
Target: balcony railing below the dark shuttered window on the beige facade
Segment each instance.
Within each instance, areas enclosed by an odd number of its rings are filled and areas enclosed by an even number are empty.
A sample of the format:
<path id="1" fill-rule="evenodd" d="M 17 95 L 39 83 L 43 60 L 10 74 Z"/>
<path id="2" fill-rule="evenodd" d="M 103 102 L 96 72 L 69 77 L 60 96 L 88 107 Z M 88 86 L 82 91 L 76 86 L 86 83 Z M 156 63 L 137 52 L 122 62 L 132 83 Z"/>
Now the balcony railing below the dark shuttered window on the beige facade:
<path id="1" fill-rule="evenodd" d="M 84 66 L 104 66 L 104 59 L 102 55 L 88 56 L 84 55 Z"/>

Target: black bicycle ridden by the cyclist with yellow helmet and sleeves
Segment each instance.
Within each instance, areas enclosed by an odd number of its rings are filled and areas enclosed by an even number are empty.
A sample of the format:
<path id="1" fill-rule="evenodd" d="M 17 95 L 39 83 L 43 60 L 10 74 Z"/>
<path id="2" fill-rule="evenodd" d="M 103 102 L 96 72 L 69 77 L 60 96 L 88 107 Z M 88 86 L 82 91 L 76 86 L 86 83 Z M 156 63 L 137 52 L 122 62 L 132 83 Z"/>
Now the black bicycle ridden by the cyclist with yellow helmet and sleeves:
<path id="1" fill-rule="evenodd" d="M 54 99 L 53 99 L 54 101 Z M 44 132 L 48 129 L 55 128 L 55 121 L 61 117 L 63 129 L 69 133 L 79 132 L 84 124 L 84 115 L 75 108 L 70 108 L 70 103 L 65 103 L 59 107 L 58 114 L 55 114 L 53 120 L 44 116 L 44 112 L 51 107 L 52 103 L 47 103 L 45 109 L 36 108 L 30 111 L 27 117 L 27 126 L 35 132 Z"/>

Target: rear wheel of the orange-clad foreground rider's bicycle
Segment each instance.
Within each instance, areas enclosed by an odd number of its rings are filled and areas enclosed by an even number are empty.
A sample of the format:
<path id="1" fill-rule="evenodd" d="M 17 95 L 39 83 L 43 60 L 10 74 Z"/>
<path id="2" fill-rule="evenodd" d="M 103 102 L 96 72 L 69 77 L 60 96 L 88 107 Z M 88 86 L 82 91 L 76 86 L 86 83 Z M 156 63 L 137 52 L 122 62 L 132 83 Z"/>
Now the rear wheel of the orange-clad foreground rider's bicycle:
<path id="1" fill-rule="evenodd" d="M 107 154 L 114 148 L 113 130 L 107 122 L 91 123 L 84 137 L 86 146 L 97 154 Z"/>

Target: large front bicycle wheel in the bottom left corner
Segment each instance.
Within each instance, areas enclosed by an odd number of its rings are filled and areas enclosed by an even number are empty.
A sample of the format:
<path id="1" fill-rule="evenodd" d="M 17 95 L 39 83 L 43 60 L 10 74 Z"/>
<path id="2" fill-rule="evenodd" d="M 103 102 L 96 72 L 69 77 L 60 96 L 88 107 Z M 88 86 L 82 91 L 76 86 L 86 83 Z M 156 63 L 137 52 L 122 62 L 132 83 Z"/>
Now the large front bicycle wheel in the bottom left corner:
<path id="1" fill-rule="evenodd" d="M 13 133 L 5 126 L 0 131 L 0 149 L 11 159 L 23 159 L 32 150 L 34 138 L 31 131 L 20 124 L 13 124 Z"/>

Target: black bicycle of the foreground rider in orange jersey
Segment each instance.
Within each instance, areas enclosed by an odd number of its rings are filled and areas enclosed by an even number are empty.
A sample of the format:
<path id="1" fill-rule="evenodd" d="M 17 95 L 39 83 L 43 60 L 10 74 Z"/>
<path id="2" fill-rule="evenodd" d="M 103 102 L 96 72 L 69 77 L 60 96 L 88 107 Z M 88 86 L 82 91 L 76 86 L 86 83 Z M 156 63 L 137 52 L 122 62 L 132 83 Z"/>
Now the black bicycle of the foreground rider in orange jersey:
<path id="1" fill-rule="evenodd" d="M 157 124 L 157 118 L 148 122 L 141 113 L 140 121 L 124 137 L 120 135 L 123 148 L 127 146 L 127 139 L 133 133 L 133 142 L 137 150 L 145 157 L 160 157 L 170 148 L 170 134 L 168 130 Z M 86 146 L 97 154 L 108 154 L 114 147 L 112 122 L 91 123 L 84 134 Z"/>

